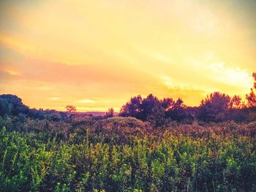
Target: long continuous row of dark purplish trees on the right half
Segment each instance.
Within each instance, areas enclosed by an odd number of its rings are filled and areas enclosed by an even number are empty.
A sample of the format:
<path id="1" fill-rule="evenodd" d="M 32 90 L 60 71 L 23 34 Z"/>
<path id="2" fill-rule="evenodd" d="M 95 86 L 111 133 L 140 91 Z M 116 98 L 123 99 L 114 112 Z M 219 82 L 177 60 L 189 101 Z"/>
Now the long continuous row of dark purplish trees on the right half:
<path id="1" fill-rule="evenodd" d="M 140 95 L 132 97 L 127 104 L 121 107 L 120 116 L 132 116 L 140 120 L 148 120 L 159 126 L 167 119 L 177 121 L 204 120 L 255 120 L 256 119 L 256 73 L 254 88 L 246 95 L 247 103 L 241 96 L 232 98 L 225 93 L 214 92 L 206 96 L 198 107 L 188 107 L 181 98 L 176 101 L 172 98 L 158 99 L 152 94 L 146 98 Z"/>

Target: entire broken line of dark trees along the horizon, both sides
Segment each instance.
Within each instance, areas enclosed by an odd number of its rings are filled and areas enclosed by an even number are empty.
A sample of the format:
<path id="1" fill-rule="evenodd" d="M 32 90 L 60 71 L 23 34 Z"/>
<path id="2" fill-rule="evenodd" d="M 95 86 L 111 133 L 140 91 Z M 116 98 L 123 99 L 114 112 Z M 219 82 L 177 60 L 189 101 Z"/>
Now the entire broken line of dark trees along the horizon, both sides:
<path id="1" fill-rule="evenodd" d="M 119 112 L 121 117 L 134 117 L 139 120 L 151 122 L 154 126 L 162 126 L 168 120 L 189 123 L 193 120 L 203 121 L 225 121 L 235 120 L 252 121 L 256 120 L 256 73 L 252 74 L 255 79 L 254 87 L 246 95 L 246 103 L 241 96 L 232 98 L 225 93 L 214 92 L 206 96 L 198 107 L 189 107 L 184 104 L 181 98 L 158 99 L 157 96 L 149 94 L 146 98 L 142 96 L 132 97 Z M 0 96 L 0 115 L 26 115 L 30 118 L 47 118 L 49 120 L 61 120 L 76 115 L 76 107 L 66 106 L 67 112 L 56 110 L 35 110 L 24 105 L 18 96 L 3 94 Z M 113 108 L 106 112 L 105 118 L 113 117 Z"/>

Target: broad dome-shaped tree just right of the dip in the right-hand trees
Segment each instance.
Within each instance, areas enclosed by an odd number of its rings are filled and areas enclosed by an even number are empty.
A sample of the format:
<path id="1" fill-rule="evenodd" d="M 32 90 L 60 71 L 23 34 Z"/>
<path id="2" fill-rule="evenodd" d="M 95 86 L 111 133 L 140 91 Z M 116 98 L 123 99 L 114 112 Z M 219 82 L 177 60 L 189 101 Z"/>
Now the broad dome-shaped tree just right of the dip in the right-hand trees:
<path id="1" fill-rule="evenodd" d="M 203 99 L 198 109 L 197 118 L 200 120 L 227 120 L 230 96 L 225 93 L 214 92 Z"/>

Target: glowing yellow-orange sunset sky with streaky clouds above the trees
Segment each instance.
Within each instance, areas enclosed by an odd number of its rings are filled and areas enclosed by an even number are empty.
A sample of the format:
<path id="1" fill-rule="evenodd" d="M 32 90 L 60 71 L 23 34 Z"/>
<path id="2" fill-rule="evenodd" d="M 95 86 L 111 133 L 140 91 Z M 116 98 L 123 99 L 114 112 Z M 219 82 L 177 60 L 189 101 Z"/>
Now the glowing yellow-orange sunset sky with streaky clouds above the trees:
<path id="1" fill-rule="evenodd" d="M 132 96 L 244 98 L 256 1 L 0 1 L 0 94 L 31 108 L 118 112 Z"/>

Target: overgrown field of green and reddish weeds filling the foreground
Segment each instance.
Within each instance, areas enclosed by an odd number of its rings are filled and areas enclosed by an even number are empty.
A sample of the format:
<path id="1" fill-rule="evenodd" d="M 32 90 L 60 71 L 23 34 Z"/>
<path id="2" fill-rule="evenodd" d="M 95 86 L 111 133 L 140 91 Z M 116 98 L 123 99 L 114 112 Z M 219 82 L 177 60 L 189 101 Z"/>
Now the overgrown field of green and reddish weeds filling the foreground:
<path id="1" fill-rule="evenodd" d="M 1 191 L 256 191 L 256 123 L 0 120 Z"/>

